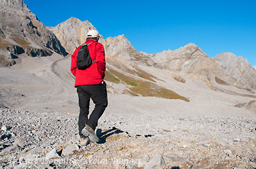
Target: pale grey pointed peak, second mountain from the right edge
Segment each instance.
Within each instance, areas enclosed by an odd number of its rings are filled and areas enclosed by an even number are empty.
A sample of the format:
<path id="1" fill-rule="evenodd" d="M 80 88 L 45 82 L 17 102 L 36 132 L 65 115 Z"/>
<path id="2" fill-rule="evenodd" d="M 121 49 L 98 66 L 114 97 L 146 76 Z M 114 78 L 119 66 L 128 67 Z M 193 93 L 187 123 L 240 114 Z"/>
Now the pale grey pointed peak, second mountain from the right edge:
<path id="1" fill-rule="evenodd" d="M 225 80 L 228 84 L 238 85 L 236 80 L 230 78 L 219 64 L 209 58 L 196 44 L 189 43 L 178 50 L 167 50 L 151 55 L 153 66 L 187 74 L 204 76 L 209 81 L 217 78 Z"/>

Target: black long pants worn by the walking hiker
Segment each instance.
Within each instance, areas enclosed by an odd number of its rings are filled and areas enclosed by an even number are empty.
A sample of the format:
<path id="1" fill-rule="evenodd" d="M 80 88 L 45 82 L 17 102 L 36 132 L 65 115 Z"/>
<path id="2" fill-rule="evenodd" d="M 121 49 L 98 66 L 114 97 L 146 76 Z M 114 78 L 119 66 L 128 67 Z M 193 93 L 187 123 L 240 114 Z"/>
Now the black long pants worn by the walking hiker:
<path id="1" fill-rule="evenodd" d="M 78 119 L 79 135 L 83 136 L 81 131 L 86 125 L 89 125 L 93 130 L 98 125 L 99 117 L 102 116 L 108 106 L 108 96 L 106 83 L 102 84 L 80 85 L 77 86 L 80 114 Z M 90 98 L 94 101 L 95 107 L 89 115 Z"/>

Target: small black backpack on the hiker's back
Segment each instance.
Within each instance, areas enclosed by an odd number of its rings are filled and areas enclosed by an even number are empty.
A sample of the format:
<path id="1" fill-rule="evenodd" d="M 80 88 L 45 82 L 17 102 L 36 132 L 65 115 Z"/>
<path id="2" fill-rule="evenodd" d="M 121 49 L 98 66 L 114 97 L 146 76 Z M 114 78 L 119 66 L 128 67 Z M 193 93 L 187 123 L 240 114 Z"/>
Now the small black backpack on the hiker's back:
<path id="1" fill-rule="evenodd" d="M 91 44 L 91 43 L 89 43 Z M 96 60 L 92 61 L 91 56 L 89 54 L 88 45 L 82 44 L 77 55 L 77 67 L 78 69 L 85 70 L 89 68 L 92 63 L 95 63 Z"/>

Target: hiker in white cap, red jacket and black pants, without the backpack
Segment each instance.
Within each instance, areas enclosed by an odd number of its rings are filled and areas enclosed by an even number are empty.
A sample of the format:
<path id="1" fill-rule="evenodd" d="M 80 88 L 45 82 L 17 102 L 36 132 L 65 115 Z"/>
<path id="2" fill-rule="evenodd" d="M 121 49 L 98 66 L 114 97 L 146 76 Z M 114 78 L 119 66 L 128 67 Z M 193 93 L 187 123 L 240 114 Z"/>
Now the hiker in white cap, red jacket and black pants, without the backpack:
<path id="1" fill-rule="evenodd" d="M 80 144 L 89 144 L 99 142 L 95 133 L 98 125 L 98 119 L 102 116 L 105 108 L 108 106 L 108 97 L 106 83 L 103 80 L 105 76 L 105 50 L 99 42 L 99 32 L 90 30 L 85 44 L 88 46 L 89 55 L 93 61 L 89 68 L 81 70 L 77 67 L 78 47 L 71 57 L 70 71 L 75 76 L 75 87 L 77 88 L 80 114 L 78 119 L 78 128 L 80 135 Z M 89 116 L 90 98 L 95 107 Z"/>

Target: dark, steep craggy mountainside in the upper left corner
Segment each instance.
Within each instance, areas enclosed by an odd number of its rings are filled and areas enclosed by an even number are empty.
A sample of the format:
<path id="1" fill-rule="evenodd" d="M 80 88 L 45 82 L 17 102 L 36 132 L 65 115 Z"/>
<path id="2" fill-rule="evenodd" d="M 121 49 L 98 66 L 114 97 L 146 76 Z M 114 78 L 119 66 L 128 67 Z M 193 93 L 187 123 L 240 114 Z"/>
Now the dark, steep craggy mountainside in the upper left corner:
<path id="1" fill-rule="evenodd" d="M 0 1 L 0 64 L 12 65 L 18 55 L 67 55 L 59 39 L 48 30 L 22 0 Z"/>

